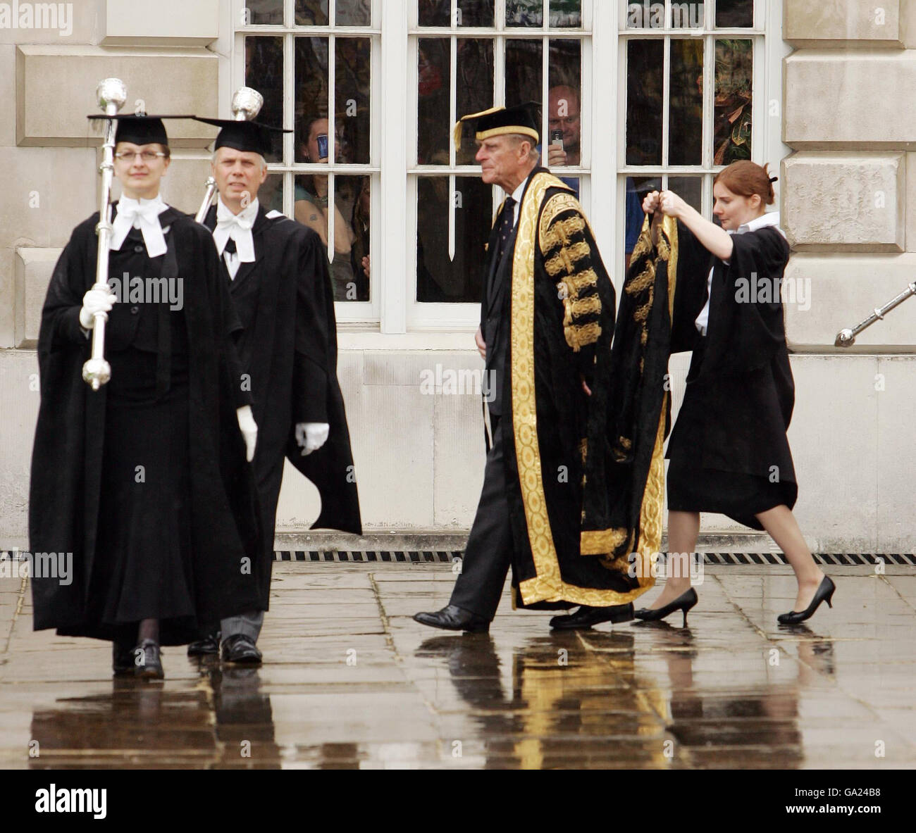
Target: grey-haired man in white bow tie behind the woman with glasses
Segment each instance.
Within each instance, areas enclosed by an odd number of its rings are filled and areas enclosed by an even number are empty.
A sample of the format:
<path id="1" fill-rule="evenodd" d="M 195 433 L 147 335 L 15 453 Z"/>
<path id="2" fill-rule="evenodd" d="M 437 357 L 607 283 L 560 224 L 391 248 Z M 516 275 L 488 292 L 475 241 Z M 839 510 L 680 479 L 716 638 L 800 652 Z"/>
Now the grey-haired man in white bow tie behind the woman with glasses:
<path id="1" fill-rule="evenodd" d="M 264 155 L 276 128 L 200 119 L 221 127 L 213 154 L 217 204 L 204 225 L 221 255 L 224 283 L 242 322 L 238 349 L 250 378 L 259 428 L 254 461 L 264 558 L 256 606 L 222 622 L 223 658 L 256 664 L 268 608 L 277 503 L 284 460 L 318 488 L 322 514 L 313 528 L 362 534 L 353 453 L 337 380 L 337 330 L 328 263 L 318 234 L 278 211 L 257 191 L 267 179 Z M 189 653 L 215 654 L 212 633 Z"/>

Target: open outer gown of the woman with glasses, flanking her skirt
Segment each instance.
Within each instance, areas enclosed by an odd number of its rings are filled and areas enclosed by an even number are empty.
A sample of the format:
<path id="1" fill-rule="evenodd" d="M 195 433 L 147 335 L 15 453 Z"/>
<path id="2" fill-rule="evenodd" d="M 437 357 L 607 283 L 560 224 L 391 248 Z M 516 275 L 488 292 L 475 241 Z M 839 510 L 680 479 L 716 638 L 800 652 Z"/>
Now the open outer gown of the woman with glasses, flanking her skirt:
<path id="1" fill-rule="evenodd" d="M 74 565 L 70 585 L 33 579 L 36 629 L 111 638 L 86 618 L 98 525 L 124 523 L 99 516 L 106 393 L 104 387 L 93 393 L 82 381 L 91 341 L 82 333 L 79 313 L 83 295 L 95 283 L 98 219 L 95 214 L 74 230 L 42 311 L 29 541 L 33 552 L 72 553 Z M 256 490 L 235 414 L 251 400 L 239 385 L 233 344 L 238 321 L 212 237 L 178 211 L 160 215 L 160 222 L 170 226 L 167 243 L 184 282 L 193 590 L 197 622 L 213 622 L 255 608 L 262 595 Z M 175 634 L 172 641 L 194 635 Z"/>

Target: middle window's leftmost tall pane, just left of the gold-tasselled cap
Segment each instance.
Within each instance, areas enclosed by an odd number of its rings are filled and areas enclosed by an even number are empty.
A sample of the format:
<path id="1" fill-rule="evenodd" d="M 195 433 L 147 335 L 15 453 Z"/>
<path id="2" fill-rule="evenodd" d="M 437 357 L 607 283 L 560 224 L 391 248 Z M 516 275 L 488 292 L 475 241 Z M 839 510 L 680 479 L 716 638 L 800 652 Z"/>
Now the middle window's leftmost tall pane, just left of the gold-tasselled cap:
<path id="1" fill-rule="evenodd" d="M 453 127 L 450 124 L 450 39 L 420 38 L 418 70 L 420 84 L 417 97 L 417 162 L 420 165 L 448 165 L 449 140 Z"/>

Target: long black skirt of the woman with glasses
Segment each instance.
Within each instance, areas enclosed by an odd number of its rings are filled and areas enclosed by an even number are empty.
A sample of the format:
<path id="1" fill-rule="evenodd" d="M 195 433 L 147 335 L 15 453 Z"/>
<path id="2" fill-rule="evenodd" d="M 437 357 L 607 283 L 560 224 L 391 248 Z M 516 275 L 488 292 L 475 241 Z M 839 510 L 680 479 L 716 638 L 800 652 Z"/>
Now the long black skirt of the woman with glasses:
<path id="1" fill-rule="evenodd" d="M 186 644 L 198 632 L 187 378 L 172 373 L 158 395 L 155 353 L 128 349 L 111 363 L 87 627 L 71 635 L 129 642 L 158 619 L 161 644 Z"/>

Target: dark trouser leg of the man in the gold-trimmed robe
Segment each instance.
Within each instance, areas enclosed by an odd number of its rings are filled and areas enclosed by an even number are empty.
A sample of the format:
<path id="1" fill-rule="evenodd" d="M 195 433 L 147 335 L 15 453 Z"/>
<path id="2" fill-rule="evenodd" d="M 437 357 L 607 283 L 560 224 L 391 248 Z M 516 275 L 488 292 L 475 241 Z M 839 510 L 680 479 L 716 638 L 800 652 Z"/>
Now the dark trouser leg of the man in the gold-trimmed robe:
<path id="1" fill-rule="evenodd" d="M 450 602 L 486 620 L 496 616 L 512 565 L 512 527 L 506 499 L 501 419 L 491 414 L 490 421 L 493 448 L 486 456 L 484 490 L 467 539 L 462 572 L 455 582 Z"/>

